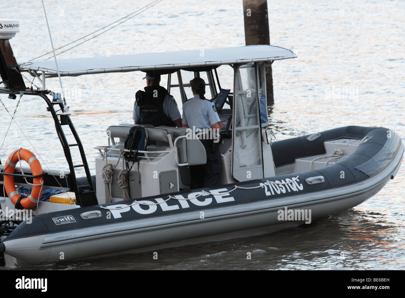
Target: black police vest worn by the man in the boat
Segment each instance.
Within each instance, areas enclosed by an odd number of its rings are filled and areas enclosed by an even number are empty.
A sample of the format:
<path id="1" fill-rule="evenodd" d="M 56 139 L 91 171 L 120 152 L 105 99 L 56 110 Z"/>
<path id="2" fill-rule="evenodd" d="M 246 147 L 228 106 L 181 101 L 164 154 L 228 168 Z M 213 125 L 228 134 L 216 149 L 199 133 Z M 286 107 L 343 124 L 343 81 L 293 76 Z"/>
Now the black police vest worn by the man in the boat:
<path id="1" fill-rule="evenodd" d="M 145 91 L 136 92 L 135 98 L 139 107 L 141 124 L 175 126 L 163 112 L 163 101 L 167 94 L 167 90 L 162 86 L 147 86 Z"/>

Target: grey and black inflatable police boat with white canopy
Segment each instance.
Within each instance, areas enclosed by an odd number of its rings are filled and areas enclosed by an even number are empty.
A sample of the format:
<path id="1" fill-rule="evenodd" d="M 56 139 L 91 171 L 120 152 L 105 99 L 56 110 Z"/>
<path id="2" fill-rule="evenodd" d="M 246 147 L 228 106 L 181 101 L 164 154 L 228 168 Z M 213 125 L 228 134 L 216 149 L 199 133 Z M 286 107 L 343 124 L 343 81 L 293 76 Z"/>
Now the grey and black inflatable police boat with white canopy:
<path id="1" fill-rule="evenodd" d="M 42 170 L 39 157 L 26 149 L 1 152 L 3 215 L 6 208 L 36 211 L 33 217 L 2 220 L 3 264 L 4 259 L 16 266 L 66 262 L 276 232 L 361 204 L 401 165 L 401 138 L 384 127 L 346 126 L 273 141 L 265 67 L 296 58 L 289 49 L 254 45 L 204 49 L 203 55 L 196 50 L 61 59 L 59 67 L 50 60 L 17 64 L 9 39 L 18 28 L 0 29 L 0 93 L 9 99 L 23 96 L 22 102 L 26 96 L 45 101 L 66 168 Z M 230 86 L 220 85 L 218 72 L 224 68 L 233 71 Z M 182 103 L 188 87 L 183 76 L 206 78 L 224 123 L 219 187 L 190 189 L 189 167 L 206 163 L 205 149 L 185 128 L 171 126 L 141 125 L 145 147 L 132 162 L 125 157 L 133 153 L 125 141 L 134 124 L 106 127 L 105 142 L 94 144 L 99 154 L 91 175 L 67 105 L 47 90 L 45 80 L 132 71 L 165 75 L 168 92 L 178 88 Z M 27 88 L 23 72 L 40 80 L 42 88 Z M 74 144 L 68 142 L 71 135 Z M 79 161 L 70 153 L 73 146 L 79 148 Z M 19 166 L 21 159 L 30 167 Z M 22 195 L 22 187 L 32 192 Z M 49 189 L 67 195 L 43 199 Z"/>

